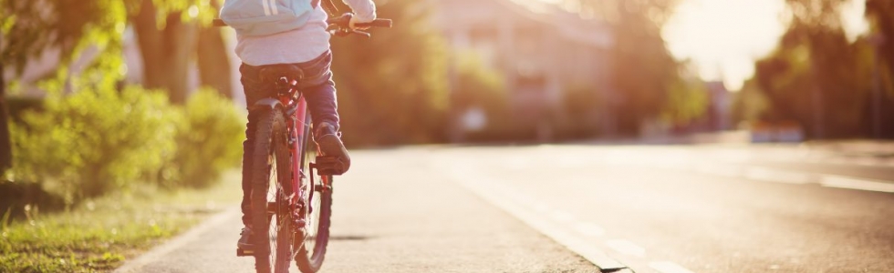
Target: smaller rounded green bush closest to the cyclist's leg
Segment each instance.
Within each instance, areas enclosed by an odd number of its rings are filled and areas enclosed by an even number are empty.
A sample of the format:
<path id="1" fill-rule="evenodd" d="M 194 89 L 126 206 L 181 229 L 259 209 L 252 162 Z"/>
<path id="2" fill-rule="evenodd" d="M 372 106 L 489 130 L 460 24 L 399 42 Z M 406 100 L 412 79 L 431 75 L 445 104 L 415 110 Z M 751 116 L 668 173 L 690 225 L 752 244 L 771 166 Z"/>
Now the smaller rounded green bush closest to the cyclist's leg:
<path id="1" fill-rule="evenodd" d="M 242 158 L 245 114 L 213 89 L 202 89 L 183 108 L 177 130 L 177 155 L 165 168 L 165 186 L 211 186 Z"/>

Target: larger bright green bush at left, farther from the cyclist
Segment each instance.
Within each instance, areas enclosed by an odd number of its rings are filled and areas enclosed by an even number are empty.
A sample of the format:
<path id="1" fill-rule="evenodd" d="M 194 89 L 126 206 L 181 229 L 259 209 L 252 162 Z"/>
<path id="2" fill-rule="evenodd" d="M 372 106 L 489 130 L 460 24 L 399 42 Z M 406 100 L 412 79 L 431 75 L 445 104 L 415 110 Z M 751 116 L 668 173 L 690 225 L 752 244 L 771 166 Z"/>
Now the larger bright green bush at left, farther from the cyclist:
<path id="1" fill-rule="evenodd" d="M 174 157 L 171 112 L 164 95 L 137 87 L 51 96 L 11 126 L 12 178 L 43 183 L 71 204 L 154 176 Z"/>

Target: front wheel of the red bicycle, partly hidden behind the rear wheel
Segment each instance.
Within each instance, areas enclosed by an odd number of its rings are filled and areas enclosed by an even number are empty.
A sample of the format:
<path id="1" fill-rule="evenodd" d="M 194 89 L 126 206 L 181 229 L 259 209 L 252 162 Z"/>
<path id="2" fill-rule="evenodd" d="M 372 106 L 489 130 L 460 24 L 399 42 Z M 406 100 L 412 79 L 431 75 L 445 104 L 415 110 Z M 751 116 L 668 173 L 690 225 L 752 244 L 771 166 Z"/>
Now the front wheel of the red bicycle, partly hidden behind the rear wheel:
<path id="1" fill-rule="evenodd" d="M 311 130 L 311 119 L 308 116 L 305 120 L 305 139 L 302 140 L 302 148 L 301 148 L 301 168 L 302 171 L 310 175 L 310 163 L 317 157 L 317 145 L 313 140 L 310 140 L 312 137 L 310 134 Z M 322 178 L 317 173 L 314 173 L 313 181 L 320 185 L 322 183 Z M 307 236 L 305 238 L 296 238 L 300 239 L 296 240 L 295 247 L 297 248 L 297 254 L 295 257 L 295 263 L 298 266 L 298 269 L 303 273 L 315 273 L 323 266 L 323 260 L 326 258 L 326 248 L 329 243 L 329 226 L 331 224 L 330 218 L 332 216 L 332 176 L 327 176 L 327 180 L 329 181 L 329 185 L 326 188 L 317 187 L 314 185 L 314 191 L 310 195 L 309 204 L 311 206 L 305 206 L 306 209 L 303 211 L 305 215 L 310 217 L 314 211 L 317 210 L 318 213 L 317 220 L 307 221 L 307 224 L 310 227 L 315 228 L 313 230 L 307 229 Z M 302 180 L 302 186 L 307 187 L 308 182 L 311 179 Z M 318 203 L 317 203 L 318 201 Z M 314 233 L 310 231 L 316 231 Z M 308 244 L 309 243 L 309 244 Z M 308 249 L 309 248 L 309 249 Z"/>

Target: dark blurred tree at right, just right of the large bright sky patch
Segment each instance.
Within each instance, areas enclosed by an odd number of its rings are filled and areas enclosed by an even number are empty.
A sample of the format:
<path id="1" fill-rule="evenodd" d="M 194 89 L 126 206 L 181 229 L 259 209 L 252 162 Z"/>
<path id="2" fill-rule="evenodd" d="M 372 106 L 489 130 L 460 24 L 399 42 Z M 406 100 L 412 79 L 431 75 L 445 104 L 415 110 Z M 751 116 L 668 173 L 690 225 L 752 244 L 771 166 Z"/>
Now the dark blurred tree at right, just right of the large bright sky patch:
<path id="1" fill-rule="evenodd" d="M 796 121 L 815 138 L 859 136 L 870 82 L 865 39 L 847 41 L 842 0 L 787 0 L 792 22 L 778 48 L 755 64 L 764 119 Z"/>

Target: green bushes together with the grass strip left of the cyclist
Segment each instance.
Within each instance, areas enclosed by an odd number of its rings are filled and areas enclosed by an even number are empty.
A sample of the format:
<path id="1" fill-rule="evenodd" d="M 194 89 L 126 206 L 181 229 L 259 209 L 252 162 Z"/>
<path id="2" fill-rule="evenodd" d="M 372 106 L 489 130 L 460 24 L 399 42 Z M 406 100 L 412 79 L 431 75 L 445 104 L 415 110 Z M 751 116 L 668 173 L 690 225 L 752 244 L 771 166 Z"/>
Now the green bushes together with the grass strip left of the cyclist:
<path id="1" fill-rule="evenodd" d="M 241 197 L 238 173 L 224 176 L 239 166 L 244 131 L 230 100 L 77 90 L 15 113 L 0 272 L 110 271 Z"/>

